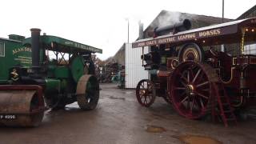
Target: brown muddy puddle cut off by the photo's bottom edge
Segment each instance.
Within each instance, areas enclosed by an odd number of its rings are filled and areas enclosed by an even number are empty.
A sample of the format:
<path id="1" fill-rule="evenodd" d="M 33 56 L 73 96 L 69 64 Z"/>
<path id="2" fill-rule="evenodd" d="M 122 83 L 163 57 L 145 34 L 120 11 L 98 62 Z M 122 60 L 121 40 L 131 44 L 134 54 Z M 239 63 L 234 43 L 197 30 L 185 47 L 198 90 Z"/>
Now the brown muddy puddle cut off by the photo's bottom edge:
<path id="1" fill-rule="evenodd" d="M 185 142 L 186 144 L 222 144 L 222 142 L 219 142 L 213 138 L 199 135 L 184 135 L 180 136 L 179 140 Z"/>

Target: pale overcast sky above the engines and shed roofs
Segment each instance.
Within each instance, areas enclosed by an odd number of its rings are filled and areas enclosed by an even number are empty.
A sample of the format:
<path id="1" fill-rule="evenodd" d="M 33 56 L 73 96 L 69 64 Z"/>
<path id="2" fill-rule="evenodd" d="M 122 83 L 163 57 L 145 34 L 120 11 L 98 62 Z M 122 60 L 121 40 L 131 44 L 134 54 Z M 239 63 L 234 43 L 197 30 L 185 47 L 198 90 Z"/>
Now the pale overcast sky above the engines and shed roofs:
<path id="1" fill-rule="evenodd" d="M 256 0 L 225 0 L 225 18 L 238 18 Z M 222 17 L 222 0 L 2 0 L 0 37 L 30 36 L 30 28 L 103 50 L 99 58 L 113 56 L 138 38 L 138 21 L 144 29 L 161 10 Z"/>

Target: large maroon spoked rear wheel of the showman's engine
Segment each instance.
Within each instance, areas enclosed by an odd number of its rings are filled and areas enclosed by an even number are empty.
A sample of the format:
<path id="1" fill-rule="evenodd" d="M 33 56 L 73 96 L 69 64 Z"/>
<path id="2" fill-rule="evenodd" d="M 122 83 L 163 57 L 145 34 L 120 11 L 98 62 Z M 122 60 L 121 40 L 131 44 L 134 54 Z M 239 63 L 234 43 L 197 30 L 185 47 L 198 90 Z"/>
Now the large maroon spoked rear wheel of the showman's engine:
<path id="1" fill-rule="evenodd" d="M 201 118 L 213 105 L 215 70 L 207 64 L 183 62 L 173 72 L 170 98 L 174 109 L 186 118 Z"/>

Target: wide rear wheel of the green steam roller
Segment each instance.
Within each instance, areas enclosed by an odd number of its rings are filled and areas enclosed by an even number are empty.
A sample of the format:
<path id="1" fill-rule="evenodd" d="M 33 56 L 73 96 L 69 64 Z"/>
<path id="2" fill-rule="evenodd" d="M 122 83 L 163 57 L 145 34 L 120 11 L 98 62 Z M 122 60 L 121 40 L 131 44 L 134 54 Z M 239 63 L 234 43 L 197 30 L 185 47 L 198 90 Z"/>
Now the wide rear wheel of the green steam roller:
<path id="1" fill-rule="evenodd" d="M 77 86 L 78 106 L 82 110 L 93 110 L 98 105 L 99 84 L 96 77 L 84 74 L 78 81 Z"/>

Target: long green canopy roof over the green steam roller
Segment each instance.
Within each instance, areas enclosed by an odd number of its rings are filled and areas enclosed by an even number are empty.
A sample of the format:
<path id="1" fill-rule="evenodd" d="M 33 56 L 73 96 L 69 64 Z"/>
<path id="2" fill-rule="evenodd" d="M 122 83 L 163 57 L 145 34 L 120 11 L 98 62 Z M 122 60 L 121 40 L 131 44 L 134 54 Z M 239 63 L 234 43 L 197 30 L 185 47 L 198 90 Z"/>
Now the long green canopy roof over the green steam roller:
<path id="1" fill-rule="evenodd" d="M 102 54 L 102 49 L 51 35 L 41 35 L 40 42 L 42 43 L 41 46 L 46 50 L 54 50 L 63 53 L 91 52 Z M 31 38 L 26 38 L 22 44 L 25 46 L 31 45 Z"/>

